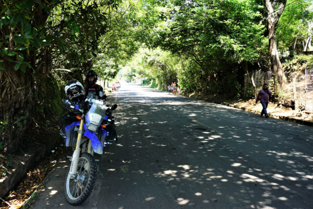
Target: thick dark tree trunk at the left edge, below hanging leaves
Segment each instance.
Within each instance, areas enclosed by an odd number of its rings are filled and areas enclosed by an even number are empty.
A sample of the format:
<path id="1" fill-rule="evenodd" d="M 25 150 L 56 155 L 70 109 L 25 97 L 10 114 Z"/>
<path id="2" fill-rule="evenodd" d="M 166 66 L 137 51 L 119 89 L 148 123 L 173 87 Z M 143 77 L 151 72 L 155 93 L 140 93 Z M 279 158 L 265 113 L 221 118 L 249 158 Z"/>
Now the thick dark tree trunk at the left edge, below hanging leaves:
<path id="1" fill-rule="evenodd" d="M 4 127 L 1 141 L 4 142 L 4 151 L 12 153 L 22 143 L 32 122 L 34 77 L 31 70 L 26 69 L 25 73 L 14 70 L 10 62 L 5 62 L 2 67 L 5 70 L 0 70 L 0 121 L 8 121 L 8 124 Z M 19 121 L 21 116 L 27 118 Z"/>

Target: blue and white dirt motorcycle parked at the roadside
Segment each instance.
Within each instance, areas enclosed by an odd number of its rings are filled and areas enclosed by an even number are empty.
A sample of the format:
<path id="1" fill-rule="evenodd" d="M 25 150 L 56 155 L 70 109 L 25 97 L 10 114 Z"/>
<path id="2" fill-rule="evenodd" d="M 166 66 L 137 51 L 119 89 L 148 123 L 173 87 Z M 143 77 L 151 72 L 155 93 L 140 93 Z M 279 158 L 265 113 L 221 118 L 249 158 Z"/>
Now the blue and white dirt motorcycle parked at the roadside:
<path id="1" fill-rule="evenodd" d="M 117 105 L 110 107 L 104 101 L 93 98 L 87 98 L 85 104 L 77 105 L 69 99 L 63 99 L 63 106 L 78 111 L 76 118 L 80 120 L 65 129 L 66 146 L 74 150 L 72 156 L 67 156 L 71 164 L 64 186 L 65 197 L 74 206 L 88 199 L 95 184 L 96 172 L 100 172 L 93 154 L 103 154 L 104 148 L 114 140 L 117 141 L 112 116 Z"/>

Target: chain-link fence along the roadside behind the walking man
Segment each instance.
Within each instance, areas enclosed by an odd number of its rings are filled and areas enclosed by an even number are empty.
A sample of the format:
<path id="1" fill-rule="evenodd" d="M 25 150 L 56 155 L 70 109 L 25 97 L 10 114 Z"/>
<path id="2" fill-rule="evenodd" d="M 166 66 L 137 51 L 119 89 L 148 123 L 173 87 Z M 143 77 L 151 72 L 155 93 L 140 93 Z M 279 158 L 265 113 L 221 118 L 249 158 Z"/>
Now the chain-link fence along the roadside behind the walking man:
<path id="1" fill-rule="evenodd" d="M 291 101 L 293 101 L 294 98 L 293 89 L 295 87 L 297 108 L 299 108 L 299 110 L 313 112 L 313 66 L 307 66 L 305 73 L 285 72 L 285 77 L 287 80 L 287 90 L 281 91 L 279 83 L 276 82 L 278 94 L 289 99 L 289 105 L 291 105 Z M 252 78 L 257 92 L 262 88 L 263 84 L 266 83 L 269 89 L 274 93 L 274 76 L 271 71 L 249 72 L 248 89 L 250 92 L 254 89 Z M 293 79 L 295 79 L 294 85 Z"/>

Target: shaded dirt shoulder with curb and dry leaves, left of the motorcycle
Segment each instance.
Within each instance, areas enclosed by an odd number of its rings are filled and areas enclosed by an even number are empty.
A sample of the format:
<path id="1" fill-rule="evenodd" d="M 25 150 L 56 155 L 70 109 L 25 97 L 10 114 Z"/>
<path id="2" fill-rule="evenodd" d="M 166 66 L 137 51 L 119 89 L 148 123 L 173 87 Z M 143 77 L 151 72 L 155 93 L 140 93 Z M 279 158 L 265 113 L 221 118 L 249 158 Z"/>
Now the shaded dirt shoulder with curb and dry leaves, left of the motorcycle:
<path id="1" fill-rule="evenodd" d="M 0 209 L 20 208 L 65 152 L 58 118 L 34 121 L 15 154 L 1 152 Z M 5 171 L 5 175 L 4 174 Z M 6 196 L 4 196 L 6 195 Z"/>

